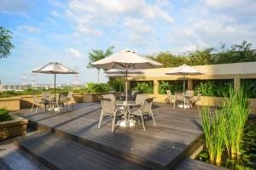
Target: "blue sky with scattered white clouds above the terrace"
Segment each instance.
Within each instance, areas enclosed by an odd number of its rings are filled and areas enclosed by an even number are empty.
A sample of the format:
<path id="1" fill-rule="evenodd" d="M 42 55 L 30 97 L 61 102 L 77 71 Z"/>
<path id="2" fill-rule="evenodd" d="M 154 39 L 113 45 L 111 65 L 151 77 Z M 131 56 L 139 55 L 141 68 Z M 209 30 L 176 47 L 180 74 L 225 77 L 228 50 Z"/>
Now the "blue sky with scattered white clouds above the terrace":
<path id="1" fill-rule="evenodd" d="M 60 62 L 80 74 L 58 75 L 58 83 L 96 82 L 88 54 L 111 46 L 114 53 L 183 54 L 246 40 L 256 48 L 255 8 L 255 0 L 0 0 L 0 26 L 15 45 L 1 59 L 0 80 L 53 83 L 52 75 L 30 71 Z M 103 71 L 100 81 L 108 81 Z"/>

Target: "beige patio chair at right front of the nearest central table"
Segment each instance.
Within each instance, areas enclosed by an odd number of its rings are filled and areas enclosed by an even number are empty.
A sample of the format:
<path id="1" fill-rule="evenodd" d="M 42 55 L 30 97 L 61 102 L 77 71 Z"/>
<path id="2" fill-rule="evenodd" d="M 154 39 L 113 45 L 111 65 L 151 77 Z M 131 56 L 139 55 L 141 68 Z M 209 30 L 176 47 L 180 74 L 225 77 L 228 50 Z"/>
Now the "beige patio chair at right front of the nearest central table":
<path id="1" fill-rule="evenodd" d="M 141 107 L 140 110 L 131 110 L 130 111 L 130 114 L 133 115 L 133 116 L 140 116 L 141 120 L 142 120 L 142 123 L 143 123 L 143 130 L 146 131 L 145 129 L 145 123 L 144 123 L 144 119 L 143 119 L 143 116 L 145 115 L 151 115 L 152 117 L 152 120 L 154 122 L 154 114 L 152 112 L 152 103 L 153 103 L 153 98 L 148 98 L 148 99 L 144 99 L 143 101 L 143 105 Z M 154 122 L 154 127 L 155 127 L 155 122 Z"/>

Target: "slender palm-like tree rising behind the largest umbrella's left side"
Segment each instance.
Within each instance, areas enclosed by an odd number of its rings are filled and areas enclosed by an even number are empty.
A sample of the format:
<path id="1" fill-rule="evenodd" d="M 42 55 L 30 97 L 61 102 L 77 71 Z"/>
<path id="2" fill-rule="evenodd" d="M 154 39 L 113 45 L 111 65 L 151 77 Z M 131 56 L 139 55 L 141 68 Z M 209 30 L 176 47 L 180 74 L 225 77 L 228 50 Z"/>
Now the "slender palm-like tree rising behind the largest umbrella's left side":
<path id="1" fill-rule="evenodd" d="M 89 63 L 87 65 L 87 68 L 92 69 L 96 68 L 94 65 L 91 65 L 93 62 L 96 62 L 100 59 L 104 59 L 108 57 L 109 55 L 113 54 L 113 48 L 114 47 L 109 47 L 105 52 L 103 52 L 102 49 L 92 49 L 91 52 L 89 53 Z M 97 75 L 97 82 L 99 82 L 99 76 L 100 76 L 100 68 L 96 68 L 98 71 Z"/>

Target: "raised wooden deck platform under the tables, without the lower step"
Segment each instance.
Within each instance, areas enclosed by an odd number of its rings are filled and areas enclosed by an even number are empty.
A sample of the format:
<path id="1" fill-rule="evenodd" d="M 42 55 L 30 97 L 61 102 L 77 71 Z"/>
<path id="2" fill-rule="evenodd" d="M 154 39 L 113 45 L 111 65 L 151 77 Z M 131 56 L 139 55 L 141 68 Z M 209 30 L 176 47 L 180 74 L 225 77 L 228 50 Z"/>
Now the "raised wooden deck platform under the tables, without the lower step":
<path id="1" fill-rule="evenodd" d="M 105 117 L 104 125 L 97 129 L 100 111 L 99 103 L 87 103 L 60 113 L 40 110 L 35 114 L 22 110 L 15 114 L 28 119 L 30 126 L 150 169 L 176 167 L 202 134 L 197 110 L 157 104 L 153 109 L 156 127 L 149 120 L 145 124 L 146 132 L 137 124 L 136 127 L 118 127 L 114 133 L 111 133 L 109 117 Z M 68 150 L 68 145 L 66 147 Z"/>

